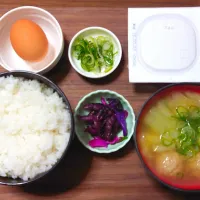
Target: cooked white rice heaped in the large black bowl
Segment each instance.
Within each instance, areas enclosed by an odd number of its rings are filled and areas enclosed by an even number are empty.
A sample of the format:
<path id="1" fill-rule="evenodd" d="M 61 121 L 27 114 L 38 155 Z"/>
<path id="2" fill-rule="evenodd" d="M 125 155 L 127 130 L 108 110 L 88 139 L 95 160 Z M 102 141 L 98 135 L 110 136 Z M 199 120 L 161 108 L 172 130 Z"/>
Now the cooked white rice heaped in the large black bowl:
<path id="1" fill-rule="evenodd" d="M 0 78 L 0 176 L 28 180 L 47 171 L 69 141 L 62 98 L 35 80 Z"/>

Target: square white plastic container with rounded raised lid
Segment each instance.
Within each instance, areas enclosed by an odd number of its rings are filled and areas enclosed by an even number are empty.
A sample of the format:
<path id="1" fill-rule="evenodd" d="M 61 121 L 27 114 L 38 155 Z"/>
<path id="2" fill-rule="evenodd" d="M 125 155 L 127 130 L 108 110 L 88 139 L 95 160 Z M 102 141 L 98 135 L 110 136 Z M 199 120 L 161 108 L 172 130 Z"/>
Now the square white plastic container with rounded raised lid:
<path id="1" fill-rule="evenodd" d="M 129 81 L 199 82 L 200 8 L 128 10 Z"/>

